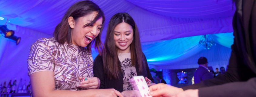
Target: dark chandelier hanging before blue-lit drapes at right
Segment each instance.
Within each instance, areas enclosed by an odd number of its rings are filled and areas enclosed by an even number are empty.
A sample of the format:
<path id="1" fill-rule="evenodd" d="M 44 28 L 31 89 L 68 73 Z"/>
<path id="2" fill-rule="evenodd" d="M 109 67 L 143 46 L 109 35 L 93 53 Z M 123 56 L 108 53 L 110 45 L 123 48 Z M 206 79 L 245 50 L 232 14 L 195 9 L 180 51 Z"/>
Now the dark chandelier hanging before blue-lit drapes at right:
<path id="1" fill-rule="evenodd" d="M 210 49 L 211 46 L 216 45 L 212 37 L 208 37 L 207 35 L 203 35 L 199 41 L 199 46 L 203 46 L 204 49 Z"/>

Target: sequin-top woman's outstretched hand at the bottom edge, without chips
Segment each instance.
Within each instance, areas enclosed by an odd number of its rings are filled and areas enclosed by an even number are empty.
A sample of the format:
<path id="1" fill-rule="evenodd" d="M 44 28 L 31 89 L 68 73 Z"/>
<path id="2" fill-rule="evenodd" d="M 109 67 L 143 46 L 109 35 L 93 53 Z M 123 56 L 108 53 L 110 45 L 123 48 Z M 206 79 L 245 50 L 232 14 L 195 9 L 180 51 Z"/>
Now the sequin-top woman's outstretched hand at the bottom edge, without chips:
<path id="1" fill-rule="evenodd" d="M 124 97 L 120 92 L 115 89 L 97 89 L 97 95 L 95 97 Z"/>

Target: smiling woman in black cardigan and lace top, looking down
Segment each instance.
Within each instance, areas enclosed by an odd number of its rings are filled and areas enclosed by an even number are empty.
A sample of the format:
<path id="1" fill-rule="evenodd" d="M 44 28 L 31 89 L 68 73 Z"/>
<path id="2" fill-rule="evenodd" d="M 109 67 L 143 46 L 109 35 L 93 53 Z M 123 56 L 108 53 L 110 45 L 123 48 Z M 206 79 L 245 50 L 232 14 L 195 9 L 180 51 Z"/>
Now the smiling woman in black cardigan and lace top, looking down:
<path id="1" fill-rule="evenodd" d="M 118 13 L 110 19 L 104 46 L 93 67 L 94 76 L 101 81 L 100 89 L 114 88 L 124 96 L 135 96 L 140 93 L 133 76 L 154 81 L 141 50 L 138 28 L 129 14 Z"/>

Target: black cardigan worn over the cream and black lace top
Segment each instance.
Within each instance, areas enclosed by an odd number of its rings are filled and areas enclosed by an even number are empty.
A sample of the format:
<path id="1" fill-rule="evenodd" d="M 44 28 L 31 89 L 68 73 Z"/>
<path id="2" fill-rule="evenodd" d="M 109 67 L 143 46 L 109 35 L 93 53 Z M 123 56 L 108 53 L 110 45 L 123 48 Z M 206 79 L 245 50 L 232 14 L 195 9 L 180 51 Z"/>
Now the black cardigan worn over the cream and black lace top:
<path id="1" fill-rule="evenodd" d="M 135 65 L 136 71 L 137 71 L 137 75 L 138 76 L 144 76 L 147 77 L 148 79 L 150 79 L 152 82 L 154 82 L 153 77 L 151 76 L 151 73 L 149 71 L 148 68 L 148 62 L 147 59 L 145 57 L 145 55 L 143 54 L 144 57 L 144 61 L 145 61 L 145 65 L 146 65 L 146 70 L 143 70 L 142 73 L 138 72 L 138 65 Z M 137 62 L 136 62 L 137 63 Z M 101 85 L 99 87 L 99 89 L 109 89 L 109 88 L 113 88 L 119 92 L 123 92 L 123 74 L 120 73 L 119 74 L 119 78 L 118 80 L 115 79 L 110 79 L 105 73 L 104 73 L 104 69 L 103 69 L 103 60 L 102 60 L 102 56 L 98 55 L 94 62 L 93 62 L 93 75 L 94 77 L 98 77 L 101 81 Z"/>

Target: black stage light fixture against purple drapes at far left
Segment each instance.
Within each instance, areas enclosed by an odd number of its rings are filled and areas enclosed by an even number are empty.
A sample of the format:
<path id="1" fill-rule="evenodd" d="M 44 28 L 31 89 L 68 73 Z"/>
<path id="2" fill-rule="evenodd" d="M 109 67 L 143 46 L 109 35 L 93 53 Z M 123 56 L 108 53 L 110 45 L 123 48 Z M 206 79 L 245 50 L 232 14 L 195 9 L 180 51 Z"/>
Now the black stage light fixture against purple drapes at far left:
<path id="1" fill-rule="evenodd" d="M 20 43 L 21 37 L 14 36 L 14 31 L 9 30 L 6 25 L 0 25 L 0 33 L 5 35 L 5 38 L 12 40 L 18 45 Z"/>

